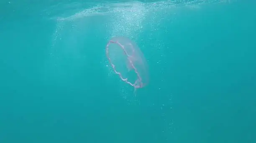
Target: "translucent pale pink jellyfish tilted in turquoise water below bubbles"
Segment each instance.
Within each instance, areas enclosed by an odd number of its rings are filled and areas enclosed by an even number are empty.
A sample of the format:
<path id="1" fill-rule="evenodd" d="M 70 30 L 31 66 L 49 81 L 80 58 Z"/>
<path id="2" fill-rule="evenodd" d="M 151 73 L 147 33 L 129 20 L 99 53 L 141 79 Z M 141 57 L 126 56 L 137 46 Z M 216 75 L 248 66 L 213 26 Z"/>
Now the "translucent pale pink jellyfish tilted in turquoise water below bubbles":
<path id="1" fill-rule="evenodd" d="M 127 37 L 113 37 L 106 46 L 106 55 L 115 74 L 136 89 L 148 84 L 148 66 L 137 44 Z"/>

